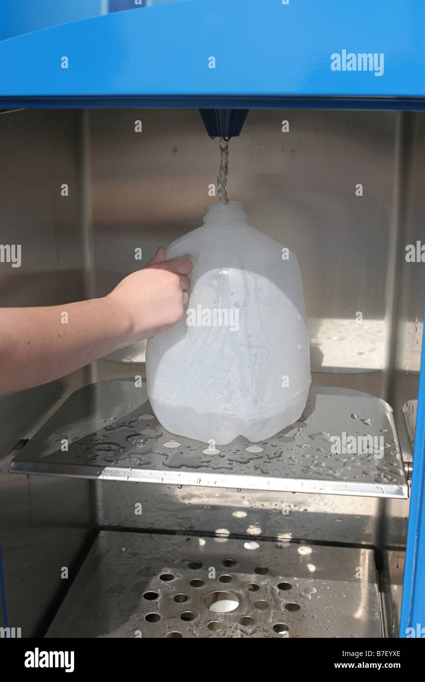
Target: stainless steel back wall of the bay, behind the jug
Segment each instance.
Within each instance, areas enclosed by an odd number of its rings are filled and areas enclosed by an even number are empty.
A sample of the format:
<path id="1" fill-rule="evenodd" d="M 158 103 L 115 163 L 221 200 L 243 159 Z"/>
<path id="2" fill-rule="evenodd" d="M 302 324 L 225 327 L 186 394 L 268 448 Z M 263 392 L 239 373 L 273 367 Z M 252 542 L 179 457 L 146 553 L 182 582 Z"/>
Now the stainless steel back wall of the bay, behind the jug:
<path id="1" fill-rule="evenodd" d="M 253 227 L 297 254 L 313 382 L 390 402 L 407 459 L 401 409 L 417 396 L 425 278 L 420 264 L 406 263 L 405 246 L 420 239 L 423 225 L 424 120 L 422 113 L 251 110 L 229 144 L 231 200 L 242 202 Z M 143 132 L 135 132 L 135 121 Z M 282 132 L 284 121 L 289 132 Z M 146 263 L 157 246 L 202 224 L 208 203 L 217 201 L 209 191 L 218 140 L 208 138 L 196 110 L 95 110 L 89 130 L 94 285 L 104 295 L 141 265 L 135 248 Z M 142 362 L 143 344 L 115 359 Z M 97 364 L 98 378 L 143 371 L 142 364 Z M 145 511 L 136 520 L 139 498 Z M 172 519 L 180 530 L 373 544 L 383 550 L 389 633 L 396 634 L 408 501 L 299 494 L 271 500 L 264 493 L 242 499 L 231 490 L 128 492 L 111 483 L 98 484 L 98 499 L 100 523 L 108 527 L 160 529 Z"/>

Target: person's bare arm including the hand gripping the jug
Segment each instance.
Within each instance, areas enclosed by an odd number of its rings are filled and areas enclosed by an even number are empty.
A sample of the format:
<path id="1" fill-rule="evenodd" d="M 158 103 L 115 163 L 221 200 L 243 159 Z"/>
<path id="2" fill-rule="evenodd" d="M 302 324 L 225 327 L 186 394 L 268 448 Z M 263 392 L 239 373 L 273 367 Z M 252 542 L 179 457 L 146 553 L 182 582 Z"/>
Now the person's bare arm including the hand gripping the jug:
<path id="1" fill-rule="evenodd" d="M 192 263 L 164 261 L 164 254 L 158 249 L 145 268 L 103 298 L 1 308 L 0 394 L 59 379 L 178 322 L 188 301 Z"/>

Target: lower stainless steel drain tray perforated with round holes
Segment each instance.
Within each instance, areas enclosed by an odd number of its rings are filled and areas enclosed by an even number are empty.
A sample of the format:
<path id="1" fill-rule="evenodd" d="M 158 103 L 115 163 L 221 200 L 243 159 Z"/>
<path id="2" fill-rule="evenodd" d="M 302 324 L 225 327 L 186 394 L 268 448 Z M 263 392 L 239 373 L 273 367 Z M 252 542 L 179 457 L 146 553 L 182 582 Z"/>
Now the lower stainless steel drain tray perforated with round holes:
<path id="1" fill-rule="evenodd" d="M 46 637 L 381 638 L 378 595 L 365 548 L 102 531 Z"/>

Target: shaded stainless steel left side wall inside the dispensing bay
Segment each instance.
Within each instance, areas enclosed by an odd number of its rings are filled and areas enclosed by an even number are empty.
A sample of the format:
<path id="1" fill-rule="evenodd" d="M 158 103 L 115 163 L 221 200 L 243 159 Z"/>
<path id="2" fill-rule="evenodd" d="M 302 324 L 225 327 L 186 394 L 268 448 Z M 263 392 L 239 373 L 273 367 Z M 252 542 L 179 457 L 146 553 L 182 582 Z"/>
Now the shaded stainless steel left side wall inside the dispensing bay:
<path id="1" fill-rule="evenodd" d="M 0 306 L 48 306 L 84 297 L 80 216 L 80 114 L 23 110 L 0 115 L 0 242 L 20 244 L 22 263 L 0 263 Z M 61 196 L 67 183 L 69 195 Z M 89 481 L 12 476 L 9 451 L 48 411 L 85 383 L 75 372 L 0 397 L 0 542 L 10 627 L 40 634 L 74 570 L 91 523 Z M 51 614 L 50 614 L 51 615 Z M 2 616 L 0 614 L 0 623 Z M 47 619 L 47 620 L 46 620 Z M 4 624 L 4 623 L 2 623 Z"/>

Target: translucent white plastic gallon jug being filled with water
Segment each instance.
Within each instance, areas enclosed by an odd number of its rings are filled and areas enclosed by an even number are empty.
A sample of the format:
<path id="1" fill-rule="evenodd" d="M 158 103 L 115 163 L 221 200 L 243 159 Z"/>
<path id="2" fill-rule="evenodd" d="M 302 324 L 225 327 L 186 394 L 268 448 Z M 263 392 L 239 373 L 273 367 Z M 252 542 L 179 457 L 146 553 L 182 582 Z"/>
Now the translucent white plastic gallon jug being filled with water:
<path id="1" fill-rule="evenodd" d="M 166 250 L 188 255 L 184 316 L 147 342 L 152 409 L 166 430 L 213 446 L 263 441 L 299 419 L 311 383 L 297 258 L 250 227 L 238 201 L 210 204 Z"/>

